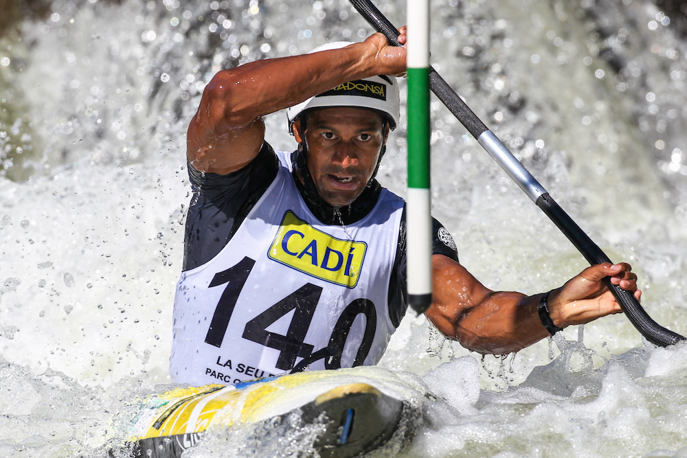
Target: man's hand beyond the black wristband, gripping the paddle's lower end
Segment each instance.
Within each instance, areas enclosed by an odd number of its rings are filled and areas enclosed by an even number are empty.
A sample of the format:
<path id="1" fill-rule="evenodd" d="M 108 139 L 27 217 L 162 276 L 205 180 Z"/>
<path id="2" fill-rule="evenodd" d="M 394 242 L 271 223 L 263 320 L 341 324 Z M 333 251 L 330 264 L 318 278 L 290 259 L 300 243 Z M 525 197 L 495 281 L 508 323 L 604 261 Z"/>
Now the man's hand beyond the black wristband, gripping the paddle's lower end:
<path id="1" fill-rule="evenodd" d="M 548 299 L 549 314 L 556 326 L 589 323 L 608 314 L 620 313 L 616 297 L 601 281 L 611 277 L 611 284 L 634 293 L 638 301 L 642 292 L 637 289 L 637 275 L 631 272 L 627 263 L 596 264 L 585 268 L 582 273 L 570 279 L 563 288 L 552 291 Z"/>

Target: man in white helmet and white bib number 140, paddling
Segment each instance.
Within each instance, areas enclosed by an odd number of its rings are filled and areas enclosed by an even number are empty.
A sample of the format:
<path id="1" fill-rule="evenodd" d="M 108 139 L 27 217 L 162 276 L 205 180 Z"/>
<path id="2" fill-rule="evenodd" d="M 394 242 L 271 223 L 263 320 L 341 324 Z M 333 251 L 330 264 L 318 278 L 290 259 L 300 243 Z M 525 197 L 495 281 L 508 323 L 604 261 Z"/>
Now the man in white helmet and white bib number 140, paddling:
<path id="1" fill-rule="evenodd" d="M 207 85 L 188 129 L 194 195 L 174 301 L 174 381 L 231 384 L 379 361 L 407 308 L 403 201 L 374 180 L 398 124 L 387 75 L 405 69 L 405 49 L 373 34 L 221 71 Z M 264 141 L 262 116 L 283 108 L 293 154 Z M 606 276 L 641 294 L 628 264 L 589 267 L 545 295 L 495 293 L 458 263 L 436 221 L 432 263 L 427 317 L 482 354 L 620 312 Z"/>

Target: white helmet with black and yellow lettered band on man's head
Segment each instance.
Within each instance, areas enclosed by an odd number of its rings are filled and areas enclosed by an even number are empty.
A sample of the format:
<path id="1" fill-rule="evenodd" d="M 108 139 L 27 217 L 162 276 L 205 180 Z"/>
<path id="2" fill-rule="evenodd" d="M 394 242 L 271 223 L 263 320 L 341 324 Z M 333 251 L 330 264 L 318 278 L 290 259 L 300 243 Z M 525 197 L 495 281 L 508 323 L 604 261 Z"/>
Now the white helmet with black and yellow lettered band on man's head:
<path id="1" fill-rule="evenodd" d="M 310 53 L 340 49 L 352 45 L 350 41 L 335 41 L 318 46 Z M 389 121 L 392 130 L 398 126 L 401 117 L 401 104 L 398 96 L 398 83 L 394 76 L 370 76 L 361 80 L 344 82 L 329 91 L 315 95 L 300 104 L 286 108 L 286 118 L 289 120 L 289 131 L 293 133 L 293 122 L 304 111 L 313 108 L 332 108 L 335 106 L 348 106 L 354 108 L 367 108 L 378 111 Z"/>

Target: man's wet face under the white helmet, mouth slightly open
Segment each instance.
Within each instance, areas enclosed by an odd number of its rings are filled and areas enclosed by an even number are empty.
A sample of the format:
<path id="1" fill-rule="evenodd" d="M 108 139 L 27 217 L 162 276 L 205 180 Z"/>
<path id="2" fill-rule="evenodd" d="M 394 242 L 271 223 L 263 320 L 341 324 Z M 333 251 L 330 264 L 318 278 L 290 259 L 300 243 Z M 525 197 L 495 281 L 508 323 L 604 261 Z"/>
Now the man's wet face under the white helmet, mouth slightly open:
<path id="1" fill-rule="evenodd" d="M 300 124 L 294 126 L 296 141 L 306 142 L 308 170 L 319 195 L 335 207 L 349 205 L 363 192 L 388 133 L 383 117 L 363 108 L 313 111 L 304 133 Z"/>

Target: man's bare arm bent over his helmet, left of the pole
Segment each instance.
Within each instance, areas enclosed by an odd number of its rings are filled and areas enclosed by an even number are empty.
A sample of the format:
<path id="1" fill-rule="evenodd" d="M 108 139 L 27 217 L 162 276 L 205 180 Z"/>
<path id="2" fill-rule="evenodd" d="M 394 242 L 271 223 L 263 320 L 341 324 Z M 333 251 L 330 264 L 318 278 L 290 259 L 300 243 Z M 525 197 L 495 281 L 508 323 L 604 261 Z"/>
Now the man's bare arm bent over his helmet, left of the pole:
<path id="1" fill-rule="evenodd" d="M 405 43 L 405 30 L 402 30 Z M 251 62 L 218 72 L 188 128 L 187 157 L 196 170 L 227 174 L 247 165 L 264 139 L 262 116 L 373 75 L 405 71 L 405 49 L 382 34 L 341 49 Z"/>

